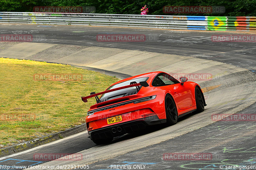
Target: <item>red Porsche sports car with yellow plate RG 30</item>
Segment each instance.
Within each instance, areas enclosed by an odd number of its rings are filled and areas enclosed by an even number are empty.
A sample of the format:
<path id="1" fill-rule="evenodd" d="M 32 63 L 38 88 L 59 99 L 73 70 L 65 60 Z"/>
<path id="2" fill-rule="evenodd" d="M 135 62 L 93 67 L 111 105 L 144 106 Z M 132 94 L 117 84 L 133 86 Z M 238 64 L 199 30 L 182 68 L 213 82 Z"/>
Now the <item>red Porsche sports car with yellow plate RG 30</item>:
<path id="1" fill-rule="evenodd" d="M 174 125 L 181 116 L 204 111 L 206 104 L 200 86 L 187 80 L 181 77 L 178 81 L 156 71 L 125 78 L 104 92 L 82 97 L 84 102 L 96 99 L 86 116 L 89 137 L 95 144 L 109 143 L 113 137 L 149 125 Z"/>

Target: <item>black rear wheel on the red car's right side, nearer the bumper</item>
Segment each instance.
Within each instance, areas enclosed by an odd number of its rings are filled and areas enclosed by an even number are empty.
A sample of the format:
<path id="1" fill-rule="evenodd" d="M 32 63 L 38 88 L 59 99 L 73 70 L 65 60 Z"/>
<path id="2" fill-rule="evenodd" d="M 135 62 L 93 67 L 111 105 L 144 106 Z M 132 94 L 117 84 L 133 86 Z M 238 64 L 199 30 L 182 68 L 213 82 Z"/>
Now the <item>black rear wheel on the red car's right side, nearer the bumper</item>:
<path id="1" fill-rule="evenodd" d="M 164 105 L 167 125 L 171 126 L 176 124 L 178 121 L 178 111 L 176 104 L 170 94 L 165 96 Z"/>

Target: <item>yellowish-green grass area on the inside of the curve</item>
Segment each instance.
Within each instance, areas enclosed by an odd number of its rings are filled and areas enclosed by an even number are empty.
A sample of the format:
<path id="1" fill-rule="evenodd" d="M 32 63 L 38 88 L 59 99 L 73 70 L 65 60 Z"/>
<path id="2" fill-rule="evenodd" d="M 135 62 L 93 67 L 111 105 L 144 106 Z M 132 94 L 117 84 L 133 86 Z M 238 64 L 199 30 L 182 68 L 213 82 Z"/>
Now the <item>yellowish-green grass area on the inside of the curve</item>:
<path id="1" fill-rule="evenodd" d="M 35 81 L 34 74 L 82 74 L 78 81 Z M 26 121 L 0 119 L 0 144 L 31 140 L 85 122 L 89 107 L 82 96 L 101 92 L 118 81 L 70 65 L 0 58 L 0 115 L 34 115 Z M 33 117 L 33 116 L 32 116 Z M 17 141 L 16 141 L 17 142 Z"/>

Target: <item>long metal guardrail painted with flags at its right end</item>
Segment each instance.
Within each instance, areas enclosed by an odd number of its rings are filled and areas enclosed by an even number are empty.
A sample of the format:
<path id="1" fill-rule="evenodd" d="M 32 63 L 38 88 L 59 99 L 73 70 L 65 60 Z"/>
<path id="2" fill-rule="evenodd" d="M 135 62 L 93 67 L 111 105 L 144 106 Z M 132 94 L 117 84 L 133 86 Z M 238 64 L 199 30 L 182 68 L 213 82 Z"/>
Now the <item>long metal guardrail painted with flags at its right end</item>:
<path id="1" fill-rule="evenodd" d="M 0 23 L 256 32 L 256 17 L 0 12 Z"/>

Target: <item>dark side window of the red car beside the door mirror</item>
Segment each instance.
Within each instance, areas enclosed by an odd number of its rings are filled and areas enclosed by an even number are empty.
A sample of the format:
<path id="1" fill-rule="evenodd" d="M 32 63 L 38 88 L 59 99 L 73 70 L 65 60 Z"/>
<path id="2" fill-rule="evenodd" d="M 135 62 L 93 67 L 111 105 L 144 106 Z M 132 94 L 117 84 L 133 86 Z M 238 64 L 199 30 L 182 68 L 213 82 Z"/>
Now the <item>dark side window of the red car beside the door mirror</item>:
<path id="1" fill-rule="evenodd" d="M 174 77 L 172 77 L 171 75 L 166 73 L 160 73 L 154 78 L 152 85 L 164 86 L 164 85 L 173 85 L 177 83 L 180 83 L 180 82 L 176 80 Z"/>

